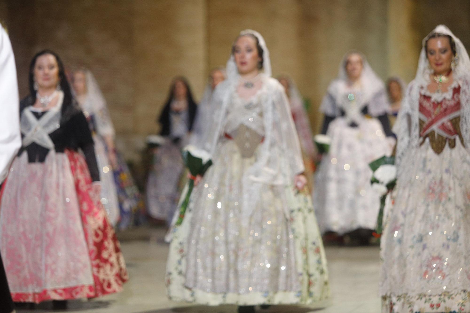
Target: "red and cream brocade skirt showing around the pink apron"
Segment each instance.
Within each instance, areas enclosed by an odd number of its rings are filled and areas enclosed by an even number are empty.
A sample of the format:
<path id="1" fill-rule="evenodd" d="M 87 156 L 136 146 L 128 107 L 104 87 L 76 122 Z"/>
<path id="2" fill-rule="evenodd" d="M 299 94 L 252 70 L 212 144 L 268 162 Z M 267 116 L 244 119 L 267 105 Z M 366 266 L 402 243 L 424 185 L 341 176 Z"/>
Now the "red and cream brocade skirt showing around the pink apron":
<path id="1" fill-rule="evenodd" d="M 47 300 L 99 297 L 122 291 L 123 283 L 128 280 L 124 257 L 114 229 L 110 225 L 102 204 L 94 201 L 92 180 L 85 158 L 72 150 L 66 150 L 65 154 L 69 160 L 68 163 L 70 163 L 75 187 L 71 187 L 71 190 L 75 189 L 77 194 L 80 210 L 78 218 L 81 218 L 83 226 L 93 282 L 90 281 L 90 284 L 72 285 L 56 289 L 47 288 L 41 291 L 14 292 L 12 290 L 11 296 L 15 302 L 40 303 Z M 6 184 L 3 184 L 2 189 L 5 186 Z M 1 190 L 0 200 L 1 196 L 3 196 L 3 191 Z M 99 199 L 99 197 L 95 198 Z M 58 203 L 58 205 L 61 204 Z M 15 260 L 12 259 L 11 261 L 13 262 L 12 264 L 16 263 L 16 265 L 10 265 L 9 267 L 6 265 L 5 268 L 7 276 L 9 276 L 8 274 L 11 275 L 11 278 L 8 280 L 12 279 L 15 281 L 16 275 L 12 268 L 19 265 Z"/>

